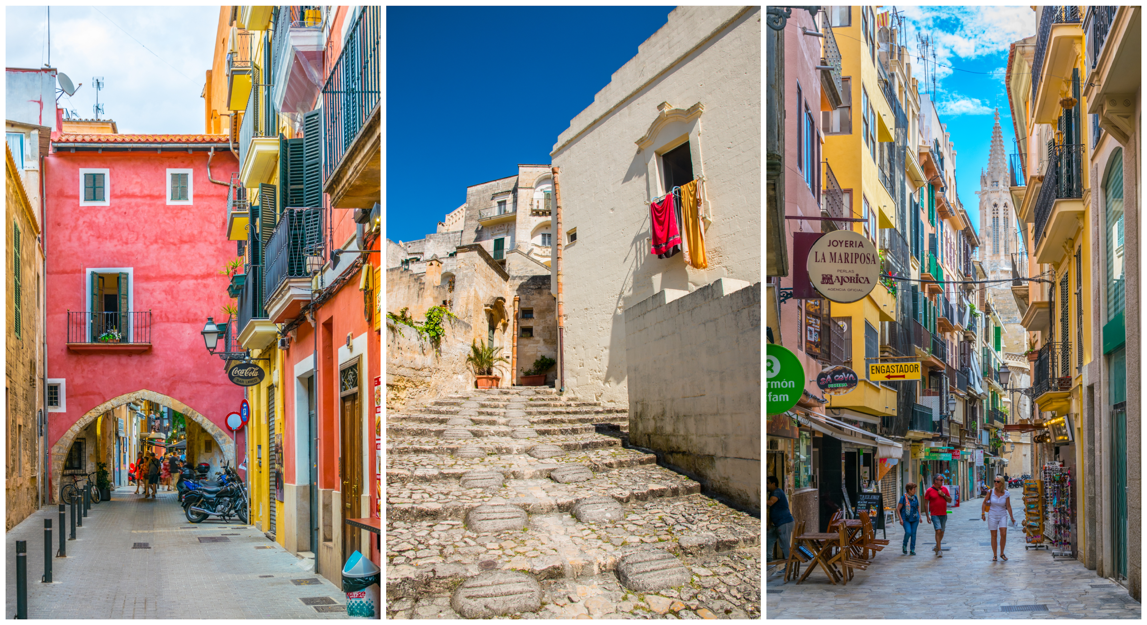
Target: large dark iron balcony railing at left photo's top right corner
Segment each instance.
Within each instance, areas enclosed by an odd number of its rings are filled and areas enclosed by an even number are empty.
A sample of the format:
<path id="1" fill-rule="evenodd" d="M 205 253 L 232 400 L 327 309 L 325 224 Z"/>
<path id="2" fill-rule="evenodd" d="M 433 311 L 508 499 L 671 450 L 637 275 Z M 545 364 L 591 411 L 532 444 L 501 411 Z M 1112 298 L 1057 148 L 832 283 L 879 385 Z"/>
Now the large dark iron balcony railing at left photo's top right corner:
<path id="1" fill-rule="evenodd" d="M 322 87 L 323 180 L 338 167 L 370 112 L 379 106 L 382 93 L 379 84 L 382 76 L 379 71 L 381 16 L 382 7 L 362 7 Z"/>

